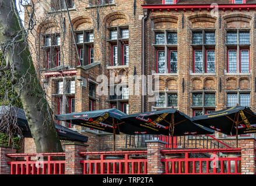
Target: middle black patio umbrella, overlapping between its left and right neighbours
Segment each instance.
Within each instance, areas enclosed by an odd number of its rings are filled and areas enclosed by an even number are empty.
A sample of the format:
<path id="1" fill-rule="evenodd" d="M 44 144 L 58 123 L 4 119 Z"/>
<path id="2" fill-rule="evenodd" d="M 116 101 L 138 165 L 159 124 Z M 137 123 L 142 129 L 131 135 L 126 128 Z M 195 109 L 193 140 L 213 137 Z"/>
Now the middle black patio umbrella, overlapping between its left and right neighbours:
<path id="1" fill-rule="evenodd" d="M 132 126 L 143 127 L 147 133 L 174 136 L 213 134 L 214 131 L 191 121 L 191 118 L 176 109 L 157 110 L 121 116 Z"/>

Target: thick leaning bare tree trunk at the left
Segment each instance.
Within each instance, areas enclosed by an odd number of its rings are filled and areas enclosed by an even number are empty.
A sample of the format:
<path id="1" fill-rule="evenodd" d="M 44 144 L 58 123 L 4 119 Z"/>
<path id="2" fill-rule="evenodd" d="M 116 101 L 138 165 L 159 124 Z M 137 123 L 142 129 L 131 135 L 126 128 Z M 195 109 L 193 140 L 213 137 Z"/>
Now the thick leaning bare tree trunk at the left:
<path id="1" fill-rule="evenodd" d="M 0 44 L 6 66 L 12 72 L 12 84 L 20 95 L 37 152 L 63 152 L 25 35 L 15 0 L 0 0 Z"/>

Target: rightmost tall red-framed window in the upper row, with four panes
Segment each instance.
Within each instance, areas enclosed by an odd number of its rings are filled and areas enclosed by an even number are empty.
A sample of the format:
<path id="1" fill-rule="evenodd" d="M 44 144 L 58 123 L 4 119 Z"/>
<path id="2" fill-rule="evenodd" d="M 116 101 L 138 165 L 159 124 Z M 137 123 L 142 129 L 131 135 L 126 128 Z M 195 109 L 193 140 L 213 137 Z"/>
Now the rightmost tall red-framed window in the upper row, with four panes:
<path id="1" fill-rule="evenodd" d="M 227 32 L 227 73 L 250 73 L 250 31 Z"/>

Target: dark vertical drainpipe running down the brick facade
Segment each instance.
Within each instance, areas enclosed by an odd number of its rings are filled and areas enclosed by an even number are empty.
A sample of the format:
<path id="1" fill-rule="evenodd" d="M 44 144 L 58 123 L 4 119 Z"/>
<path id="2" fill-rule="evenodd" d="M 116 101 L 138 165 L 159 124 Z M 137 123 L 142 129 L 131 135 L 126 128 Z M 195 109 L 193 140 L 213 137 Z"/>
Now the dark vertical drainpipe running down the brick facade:
<path id="1" fill-rule="evenodd" d="M 142 18 L 142 112 L 145 111 L 145 95 L 144 95 L 144 88 L 145 88 L 145 79 L 144 79 L 144 74 L 145 74 L 145 20 L 148 19 L 148 10 L 144 10 L 144 17 Z"/>

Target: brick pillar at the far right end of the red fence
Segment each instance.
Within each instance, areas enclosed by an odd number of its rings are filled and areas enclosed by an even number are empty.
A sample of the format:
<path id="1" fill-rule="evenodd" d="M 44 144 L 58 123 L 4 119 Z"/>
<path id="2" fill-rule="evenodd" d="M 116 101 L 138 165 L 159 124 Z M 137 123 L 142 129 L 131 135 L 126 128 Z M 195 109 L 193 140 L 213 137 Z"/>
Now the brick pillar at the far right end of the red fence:
<path id="1" fill-rule="evenodd" d="M 255 148 L 256 138 L 241 139 L 241 173 L 255 174 Z"/>

